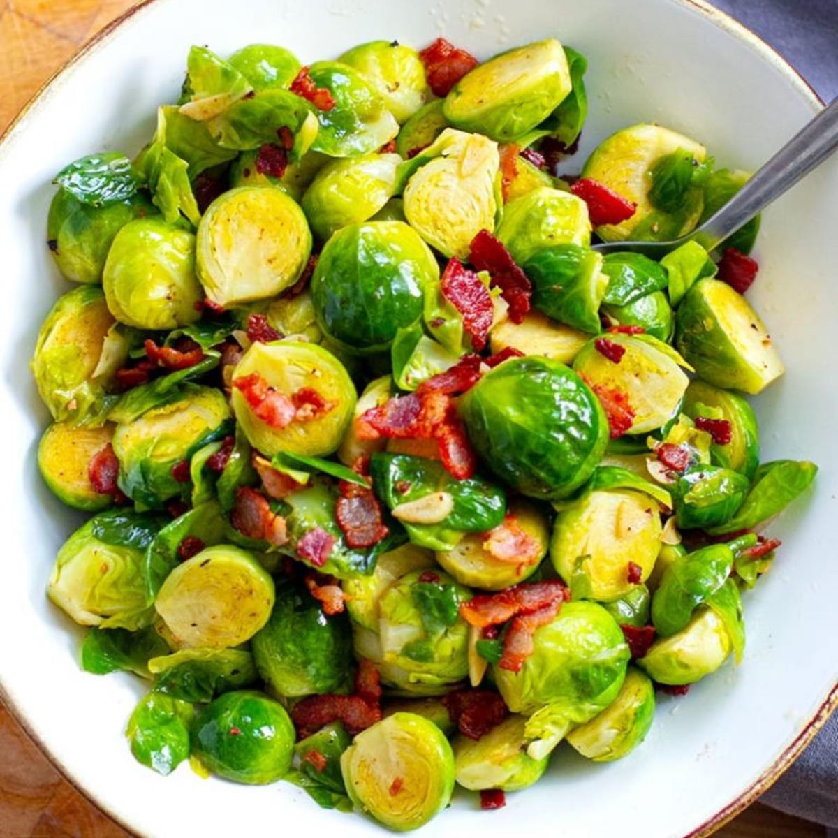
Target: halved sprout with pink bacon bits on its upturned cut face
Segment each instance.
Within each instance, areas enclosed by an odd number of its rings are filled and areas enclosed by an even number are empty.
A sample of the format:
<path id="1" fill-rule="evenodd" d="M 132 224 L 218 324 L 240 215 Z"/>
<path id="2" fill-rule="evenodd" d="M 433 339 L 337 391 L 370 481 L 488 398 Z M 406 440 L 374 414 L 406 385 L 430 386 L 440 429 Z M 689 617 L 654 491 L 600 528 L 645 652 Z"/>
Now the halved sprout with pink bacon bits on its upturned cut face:
<path id="1" fill-rule="evenodd" d="M 344 366 L 328 349 L 307 343 L 282 340 L 255 343 L 235 367 L 235 380 L 258 373 L 281 393 L 293 394 L 311 388 L 331 409 L 310 422 L 291 422 L 283 428 L 263 422 L 241 391 L 232 394 L 236 421 L 248 442 L 261 453 L 278 451 L 321 457 L 338 447 L 355 406 L 355 388 Z"/>

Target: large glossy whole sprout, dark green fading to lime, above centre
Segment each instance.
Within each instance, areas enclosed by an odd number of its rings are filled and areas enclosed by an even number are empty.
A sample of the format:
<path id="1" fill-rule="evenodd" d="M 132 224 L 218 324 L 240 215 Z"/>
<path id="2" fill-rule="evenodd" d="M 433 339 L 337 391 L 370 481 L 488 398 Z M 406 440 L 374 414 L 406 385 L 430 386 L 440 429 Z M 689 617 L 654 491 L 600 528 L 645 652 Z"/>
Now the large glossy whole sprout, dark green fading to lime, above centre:
<path id="1" fill-rule="evenodd" d="M 389 349 L 400 326 L 422 317 L 425 287 L 439 278 L 427 245 L 400 221 L 339 230 L 312 277 L 323 332 L 353 354 Z"/>

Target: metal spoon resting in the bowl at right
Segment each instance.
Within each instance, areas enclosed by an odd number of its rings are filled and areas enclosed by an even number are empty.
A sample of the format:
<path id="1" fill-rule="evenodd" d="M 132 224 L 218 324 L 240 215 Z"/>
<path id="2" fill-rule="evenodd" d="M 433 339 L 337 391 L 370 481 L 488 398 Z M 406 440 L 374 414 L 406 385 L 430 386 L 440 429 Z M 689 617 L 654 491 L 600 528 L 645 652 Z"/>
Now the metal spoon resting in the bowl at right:
<path id="1" fill-rule="evenodd" d="M 633 251 L 660 259 L 687 241 L 697 239 L 708 251 L 746 225 L 773 200 L 820 166 L 838 148 L 838 98 L 815 116 L 765 163 L 742 189 L 689 235 L 674 241 L 608 241 L 594 245 L 600 253 Z"/>

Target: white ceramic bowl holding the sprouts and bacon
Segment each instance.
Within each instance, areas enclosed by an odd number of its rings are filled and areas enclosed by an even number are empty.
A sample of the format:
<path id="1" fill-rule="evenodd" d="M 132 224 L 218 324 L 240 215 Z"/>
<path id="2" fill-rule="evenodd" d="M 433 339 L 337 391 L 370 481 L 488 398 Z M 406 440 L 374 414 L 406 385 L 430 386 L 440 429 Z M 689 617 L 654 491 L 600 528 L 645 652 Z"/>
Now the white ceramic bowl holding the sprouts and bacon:
<path id="1" fill-rule="evenodd" d="M 250 788 L 168 779 L 135 763 L 122 731 L 142 692 L 127 675 L 79 670 L 80 632 L 44 597 L 57 547 L 76 518 L 35 467 L 47 421 L 28 371 L 35 334 L 67 290 L 44 244 L 53 188 L 66 162 L 129 153 L 172 101 L 190 44 L 227 54 L 254 41 L 304 60 L 373 38 L 426 44 L 445 34 L 484 57 L 555 35 L 587 54 L 591 113 L 581 166 L 609 132 L 661 122 L 696 137 L 722 164 L 755 168 L 817 110 L 815 96 L 764 44 L 687 0 L 155 0 L 138 9 L 49 85 L 0 147 L 3 231 L 3 697 L 55 763 L 98 804 L 142 835 L 381 834 L 360 816 L 318 809 L 289 784 Z M 562 747 L 546 779 L 480 814 L 473 796 L 425 827 L 437 838 L 510 834 L 663 838 L 706 834 L 770 784 L 835 699 L 838 656 L 838 159 L 765 216 L 750 293 L 788 365 L 760 396 L 765 458 L 812 458 L 816 493 L 775 525 L 776 567 L 746 597 L 748 647 L 682 699 L 660 700 L 643 747 L 611 765 Z"/>

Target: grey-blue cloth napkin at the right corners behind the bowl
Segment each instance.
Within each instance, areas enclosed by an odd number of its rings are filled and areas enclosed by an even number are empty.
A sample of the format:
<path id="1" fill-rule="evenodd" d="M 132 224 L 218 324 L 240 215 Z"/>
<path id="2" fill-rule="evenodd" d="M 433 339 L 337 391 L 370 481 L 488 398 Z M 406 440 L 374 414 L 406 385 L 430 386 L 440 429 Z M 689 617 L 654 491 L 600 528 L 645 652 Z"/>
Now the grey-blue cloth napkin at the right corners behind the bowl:
<path id="1" fill-rule="evenodd" d="M 715 0 L 804 75 L 824 101 L 838 96 L 838 0 Z M 838 713 L 763 796 L 774 809 L 816 820 L 838 838 Z"/>

